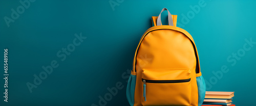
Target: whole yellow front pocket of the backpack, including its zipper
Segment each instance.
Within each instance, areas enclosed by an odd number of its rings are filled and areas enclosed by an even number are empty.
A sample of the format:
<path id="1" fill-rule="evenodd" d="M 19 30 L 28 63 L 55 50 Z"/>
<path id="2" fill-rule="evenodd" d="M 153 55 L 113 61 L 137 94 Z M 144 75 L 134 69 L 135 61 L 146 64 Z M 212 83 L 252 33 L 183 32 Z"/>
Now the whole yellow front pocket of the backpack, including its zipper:
<path id="1" fill-rule="evenodd" d="M 142 105 L 190 105 L 190 69 L 143 69 Z"/>

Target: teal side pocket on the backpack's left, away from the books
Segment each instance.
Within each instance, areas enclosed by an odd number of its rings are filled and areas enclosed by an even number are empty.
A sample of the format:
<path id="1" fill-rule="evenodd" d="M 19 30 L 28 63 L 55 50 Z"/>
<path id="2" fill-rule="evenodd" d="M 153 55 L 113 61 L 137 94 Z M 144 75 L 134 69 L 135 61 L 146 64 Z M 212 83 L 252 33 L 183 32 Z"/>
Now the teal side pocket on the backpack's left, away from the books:
<path id="1" fill-rule="evenodd" d="M 127 88 L 126 88 L 126 97 L 131 106 L 134 105 L 134 93 L 136 85 L 136 75 L 130 75 Z"/>

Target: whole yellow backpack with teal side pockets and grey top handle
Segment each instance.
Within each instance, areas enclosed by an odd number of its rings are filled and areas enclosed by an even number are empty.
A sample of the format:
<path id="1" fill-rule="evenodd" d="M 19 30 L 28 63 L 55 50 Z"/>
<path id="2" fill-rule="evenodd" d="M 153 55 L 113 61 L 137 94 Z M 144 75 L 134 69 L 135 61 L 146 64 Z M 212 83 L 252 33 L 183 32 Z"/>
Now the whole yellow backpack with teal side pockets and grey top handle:
<path id="1" fill-rule="evenodd" d="M 126 89 L 131 106 L 203 103 L 205 82 L 196 44 L 188 32 L 176 27 L 177 15 L 167 12 L 168 25 L 162 25 L 161 13 L 153 16 L 153 26 L 136 49 Z"/>

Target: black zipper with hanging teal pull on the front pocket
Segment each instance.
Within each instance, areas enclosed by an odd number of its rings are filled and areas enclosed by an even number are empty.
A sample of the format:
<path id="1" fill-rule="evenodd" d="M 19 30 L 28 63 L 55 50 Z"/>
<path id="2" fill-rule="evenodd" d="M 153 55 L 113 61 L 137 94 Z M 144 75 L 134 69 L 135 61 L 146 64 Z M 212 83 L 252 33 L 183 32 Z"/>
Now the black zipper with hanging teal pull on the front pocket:
<path id="1" fill-rule="evenodd" d="M 190 78 L 189 79 L 185 79 L 185 80 L 145 80 L 142 78 L 142 82 L 143 82 L 143 97 L 146 101 L 146 82 L 147 83 L 185 83 L 185 82 L 190 82 Z"/>

